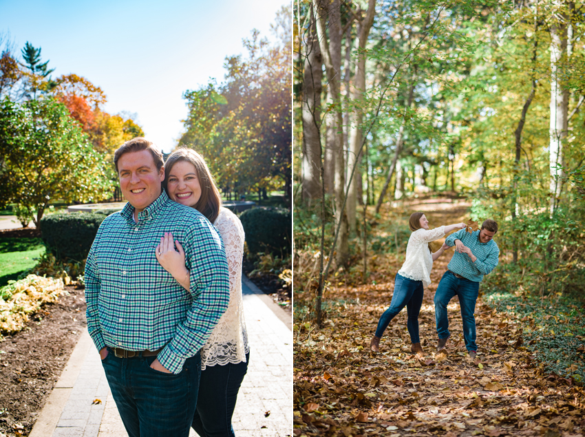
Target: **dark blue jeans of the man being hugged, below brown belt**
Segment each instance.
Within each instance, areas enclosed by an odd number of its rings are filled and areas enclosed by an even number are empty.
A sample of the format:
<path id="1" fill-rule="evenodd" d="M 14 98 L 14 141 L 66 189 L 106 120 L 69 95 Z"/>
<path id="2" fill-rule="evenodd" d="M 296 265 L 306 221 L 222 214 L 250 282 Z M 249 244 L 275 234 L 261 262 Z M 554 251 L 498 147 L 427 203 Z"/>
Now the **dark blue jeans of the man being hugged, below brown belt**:
<path id="1" fill-rule="evenodd" d="M 176 375 L 152 369 L 155 359 L 118 358 L 108 348 L 102 360 L 124 427 L 129 437 L 188 437 L 197 402 L 200 353 L 187 359 Z"/>

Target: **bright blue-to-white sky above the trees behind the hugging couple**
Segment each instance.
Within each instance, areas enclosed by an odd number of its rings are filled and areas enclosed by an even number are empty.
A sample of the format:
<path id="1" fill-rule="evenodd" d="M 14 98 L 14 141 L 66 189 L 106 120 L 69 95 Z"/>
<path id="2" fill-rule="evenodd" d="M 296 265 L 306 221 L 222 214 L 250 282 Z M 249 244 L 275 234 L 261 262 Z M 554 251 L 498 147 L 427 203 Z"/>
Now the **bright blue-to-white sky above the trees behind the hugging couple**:
<path id="1" fill-rule="evenodd" d="M 182 93 L 222 82 L 225 57 L 244 53 L 254 28 L 270 37 L 285 3 L 0 0 L 0 33 L 19 51 L 40 46 L 53 77 L 74 73 L 101 87 L 105 111 L 137 114 L 146 137 L 170 151 L 187 116 Z"/>

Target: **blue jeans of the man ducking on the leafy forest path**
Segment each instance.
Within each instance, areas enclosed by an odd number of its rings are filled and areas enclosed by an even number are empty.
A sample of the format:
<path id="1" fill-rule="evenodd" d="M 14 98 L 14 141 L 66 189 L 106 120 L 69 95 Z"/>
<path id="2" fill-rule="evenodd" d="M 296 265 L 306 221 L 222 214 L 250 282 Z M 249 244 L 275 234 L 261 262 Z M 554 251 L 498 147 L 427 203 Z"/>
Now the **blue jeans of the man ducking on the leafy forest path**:
<path id="1" fill-rule="evenodd" d="M 449 337 L 449 318 L 447 317 L 447 305 L 455 295 L 459 297 L 459 306 L 461 308 L 461 318 L 463 320 L 463 339 L 465 339 L 465 348 L 467 350 L 478 350 L 476 345 L 476 302 L 480 283 L 469 281 L 469 279 L 460 279 L 449 270 L 445 272 L 440 279 L 437 291 L 435 293 L 435 319 L 437 324 L 437 334 L 439 339 Z"/>

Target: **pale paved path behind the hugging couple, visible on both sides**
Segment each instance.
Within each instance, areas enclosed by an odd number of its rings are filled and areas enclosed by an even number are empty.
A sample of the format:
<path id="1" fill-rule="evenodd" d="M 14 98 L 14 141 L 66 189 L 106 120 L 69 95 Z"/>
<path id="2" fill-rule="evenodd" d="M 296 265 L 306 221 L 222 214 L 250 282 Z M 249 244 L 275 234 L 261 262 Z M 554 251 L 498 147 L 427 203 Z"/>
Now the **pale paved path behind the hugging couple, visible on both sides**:
<path id="1" fill-rule="evenodd" d="M 292 436 L 292 321 L 270 297 L 243 279 L 250 363 L 235 406 L 235 434 Z M 94 403 L 96 399 L 100 402 Z M 197 435 L 191 429 L 190 437 Z M 127 437 L 87 331 L 30 434 L 48 436 Z"/>

